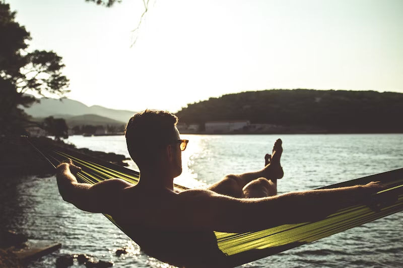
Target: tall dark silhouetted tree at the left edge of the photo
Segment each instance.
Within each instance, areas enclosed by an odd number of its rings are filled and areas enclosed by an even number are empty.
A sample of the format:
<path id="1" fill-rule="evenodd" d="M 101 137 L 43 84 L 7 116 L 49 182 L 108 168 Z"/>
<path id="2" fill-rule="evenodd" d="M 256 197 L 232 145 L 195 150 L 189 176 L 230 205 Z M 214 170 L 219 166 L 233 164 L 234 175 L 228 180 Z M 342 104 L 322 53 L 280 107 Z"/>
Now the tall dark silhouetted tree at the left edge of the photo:
<path id="1" fill-rule="evenodd" d="M 0 135 L 21 134 L 32 125 L 23 107 L 39 101 L 25 93 L 63 98 L 70 92 L 69 79 L 61 73 L 61 57 L 53 51 L 29 51 L 31 35 L 15 17 L 10 5 L 0 1 Z"/>

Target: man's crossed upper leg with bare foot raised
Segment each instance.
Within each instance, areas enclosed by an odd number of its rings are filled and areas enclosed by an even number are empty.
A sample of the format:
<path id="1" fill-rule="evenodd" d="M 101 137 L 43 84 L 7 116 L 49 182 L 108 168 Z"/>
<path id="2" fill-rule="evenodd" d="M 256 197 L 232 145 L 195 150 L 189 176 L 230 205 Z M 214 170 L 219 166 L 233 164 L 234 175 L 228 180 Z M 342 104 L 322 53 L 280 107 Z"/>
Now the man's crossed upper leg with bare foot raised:
<path id="1" fill-rule="evenodd" d="M 208 189 L 216 192 L 221 195 L 232 196 L 235 198 L 244 198 L 244 188 L 251 182 L 259 179 L 265 178 L 271 181 L 271 185 L 276 185 L 276 193 L 277 193 L 277 182 L 276 184 L 273 181 L 277 181 L 277 179 L 282 178 L 284 175 L 283 168 L 280 164 L 281 154 L 283 152 L 282 141 L 278 139 L 273 147 L 273 157 L 270 154 L 265 155 L 265 167 L 262 170 L 256 172 L 248 172 L 239 175 L 227 175 L 220 182 L 212 185 Z M 261 181 L 261 180 L 260 180 Z M 255 189 L 257 186 L 261 185 L 264 187 L 264 182 L 258 183 L 254 182 L 253 187 L 248 188 L 248 191 L 251 192 L 252 189 Z M 271 187 L 272 189 L 273 187 Z M 263 190 L 264 191 L 264 190 Z M 270 191 L 273 193 L 273 190 Z"/>

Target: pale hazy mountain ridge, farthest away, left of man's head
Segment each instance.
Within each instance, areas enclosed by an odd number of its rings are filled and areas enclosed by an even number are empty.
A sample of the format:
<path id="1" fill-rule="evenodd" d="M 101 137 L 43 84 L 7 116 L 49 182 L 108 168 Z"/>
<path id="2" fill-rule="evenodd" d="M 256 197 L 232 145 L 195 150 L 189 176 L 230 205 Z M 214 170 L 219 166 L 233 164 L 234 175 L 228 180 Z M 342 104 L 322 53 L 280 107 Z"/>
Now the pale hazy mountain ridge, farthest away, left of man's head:
<path id="1" fill-rule="evenodd" d="M 59 118 L 71 118 L 73 116 L 97 115 L 107 117 L 122 123 L 127 123 L 130 117 L 136 112 L 127 110 L 115 110 L 99 105 L 88 107 L 87 105 L 70 99 L 62 101 L 56 99 L 40 99 L 40 103 L 33 104 L 26 108 L 25 112 L 35 118 L 54 116 Z"/>

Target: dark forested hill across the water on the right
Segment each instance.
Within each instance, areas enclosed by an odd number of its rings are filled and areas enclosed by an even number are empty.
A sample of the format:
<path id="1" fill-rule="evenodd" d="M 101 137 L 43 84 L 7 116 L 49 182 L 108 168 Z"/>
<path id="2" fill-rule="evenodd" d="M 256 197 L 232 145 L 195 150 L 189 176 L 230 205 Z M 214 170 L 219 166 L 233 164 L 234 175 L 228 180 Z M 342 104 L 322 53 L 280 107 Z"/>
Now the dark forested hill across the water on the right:
<path id="1" fill-rule="evenodd" d="M 329 132 L 403 132 L 403 94 L 375 91 L 265 90 L 189 104 L 181 123 L 249 120 L 309 125 Z"/>

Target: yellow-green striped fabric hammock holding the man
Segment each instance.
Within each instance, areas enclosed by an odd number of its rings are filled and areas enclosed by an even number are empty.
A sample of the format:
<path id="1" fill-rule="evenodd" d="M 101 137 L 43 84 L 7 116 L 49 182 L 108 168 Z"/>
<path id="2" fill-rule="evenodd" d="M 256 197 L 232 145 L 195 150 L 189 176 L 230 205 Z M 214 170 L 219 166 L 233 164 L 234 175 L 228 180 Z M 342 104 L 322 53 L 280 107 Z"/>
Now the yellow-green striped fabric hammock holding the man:
<path id="1" fill-rule="evenodd" d="M 135 185 L 139 182 L 140 174 L 137 171 L 62 147 L 32 145 L 53 167 L 56 167 L 65 158 L 75 161 L 82 167 L 82 171 L 77 173 L 77 180 L 81 183 L 96 184 L 109 178 L 121 178 Z M 225 266 L 234 267 L 274 255 L 403 210 L 403 168 L 318 189 L 364 185 L 372 181 L 382 182 L 387 189 L 375 194 L 371 202 L 366 205 L 343 208 L 319 221 L 286 224 L 241 234 L 215 232 L 218 247 L 226 255 Z M 174 185 L 176 192 L 186 189 L 186 187 Z M 105 216 L 119 227 L 111 216 Z"/>

